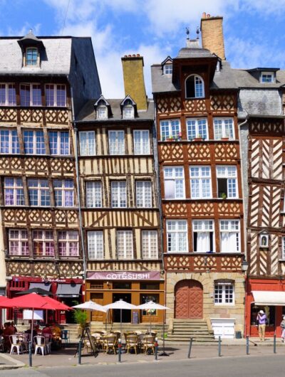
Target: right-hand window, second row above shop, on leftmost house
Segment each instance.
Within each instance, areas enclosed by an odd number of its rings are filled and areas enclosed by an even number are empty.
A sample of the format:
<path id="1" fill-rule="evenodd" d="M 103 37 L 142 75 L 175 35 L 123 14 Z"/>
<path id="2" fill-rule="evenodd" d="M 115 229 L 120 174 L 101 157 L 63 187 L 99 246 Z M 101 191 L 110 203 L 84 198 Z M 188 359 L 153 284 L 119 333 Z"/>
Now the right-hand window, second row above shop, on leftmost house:
<path id="1" fill-rule="evenodd" d="M 55 179 L 53 189 L 57 207 L 74 206 L 74 182 L 71 179 Z"/>

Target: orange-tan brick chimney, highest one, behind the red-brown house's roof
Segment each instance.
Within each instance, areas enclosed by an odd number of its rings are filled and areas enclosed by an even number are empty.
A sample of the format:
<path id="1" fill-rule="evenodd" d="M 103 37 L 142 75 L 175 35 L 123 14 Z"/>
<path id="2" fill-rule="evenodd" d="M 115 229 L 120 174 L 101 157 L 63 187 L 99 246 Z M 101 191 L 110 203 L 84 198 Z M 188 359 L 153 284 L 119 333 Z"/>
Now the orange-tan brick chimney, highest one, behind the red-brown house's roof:
<path id="1" fill-rule="evenodd" d="M 212 17 L 205 12 L 201 18 L 202 47 L 215 53 L 222 60 L 224 55 L 224 34 L 222 30 L 222 16 Z"/>

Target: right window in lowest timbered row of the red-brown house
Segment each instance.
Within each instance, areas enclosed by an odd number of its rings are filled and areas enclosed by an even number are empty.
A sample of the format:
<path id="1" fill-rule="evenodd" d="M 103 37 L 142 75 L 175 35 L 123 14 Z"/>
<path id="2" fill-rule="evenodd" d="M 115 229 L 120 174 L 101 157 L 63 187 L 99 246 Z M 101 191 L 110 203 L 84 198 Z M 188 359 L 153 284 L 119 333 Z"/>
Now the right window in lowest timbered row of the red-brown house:
<path id="1" fill-rule="evenodd" d="M 222 253 L 240 253 L 239 220 L 219 221 L 220 250 Z"/>

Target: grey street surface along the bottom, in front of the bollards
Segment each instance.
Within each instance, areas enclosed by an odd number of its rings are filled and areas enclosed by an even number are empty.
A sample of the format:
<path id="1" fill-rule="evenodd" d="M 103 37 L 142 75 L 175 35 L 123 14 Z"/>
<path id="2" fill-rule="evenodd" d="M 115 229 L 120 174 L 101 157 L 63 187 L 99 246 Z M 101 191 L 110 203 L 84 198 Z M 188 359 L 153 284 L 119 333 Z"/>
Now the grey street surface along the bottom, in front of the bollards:
<path id="1" fill-rule="evenodd" d="M 121 363 L 95 366 L 69 366 L 0 371 L 0 376 L 22 377 L 280 377 L 284 376 L 284 356 L 239 356 L 150 363 Z"/>

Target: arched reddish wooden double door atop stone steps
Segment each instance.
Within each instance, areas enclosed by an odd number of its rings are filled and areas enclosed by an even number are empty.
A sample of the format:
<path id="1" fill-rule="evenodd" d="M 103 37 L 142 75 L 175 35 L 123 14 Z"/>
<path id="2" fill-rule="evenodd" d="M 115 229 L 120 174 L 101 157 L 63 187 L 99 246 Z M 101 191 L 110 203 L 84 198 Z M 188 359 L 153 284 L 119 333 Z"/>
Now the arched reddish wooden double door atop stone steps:
<path id="1" fill-rule="evenodd" d="M 203 318 L 203 287 L 197 280 L 175 285 L 175 318 Z"/>

